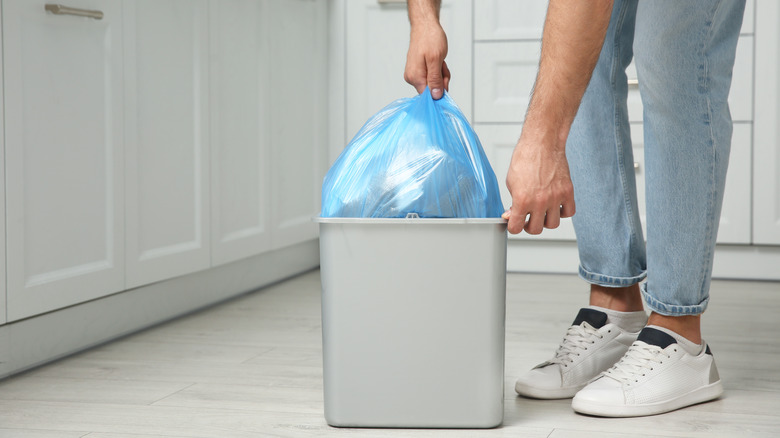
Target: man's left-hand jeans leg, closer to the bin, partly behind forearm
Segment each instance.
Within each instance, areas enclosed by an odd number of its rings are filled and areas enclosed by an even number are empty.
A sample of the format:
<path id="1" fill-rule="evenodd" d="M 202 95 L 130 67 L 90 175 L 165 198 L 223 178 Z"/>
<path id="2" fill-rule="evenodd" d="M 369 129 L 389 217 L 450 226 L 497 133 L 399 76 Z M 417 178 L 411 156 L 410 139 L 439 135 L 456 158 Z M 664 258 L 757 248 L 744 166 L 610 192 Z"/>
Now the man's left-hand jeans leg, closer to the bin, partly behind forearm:
<path id="1" fill-rule="evenodd" d="M 601 56 L 566 146 L 577 203 L 572 220 L 580 276 L 596 286 L 591 290 L 597 295 L 603 288 L 626 288 L 621 292 L 635 294 L 636 288 L 630 286 L 645 277 L 626 108 L 625 69 L 633 56 L 636 8 L 636 1 L 615 2 Z M 641 310 L 641 302 L 638 309 L 626 310 Z"/>

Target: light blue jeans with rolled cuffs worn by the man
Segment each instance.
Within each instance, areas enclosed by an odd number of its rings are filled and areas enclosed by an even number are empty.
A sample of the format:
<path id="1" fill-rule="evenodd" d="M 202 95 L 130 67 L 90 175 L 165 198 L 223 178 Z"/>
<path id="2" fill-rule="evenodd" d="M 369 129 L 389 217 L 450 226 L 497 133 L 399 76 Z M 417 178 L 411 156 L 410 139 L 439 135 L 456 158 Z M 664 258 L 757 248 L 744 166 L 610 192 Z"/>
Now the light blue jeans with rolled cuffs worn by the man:
<path id="1" fill-rule="evenodd" d="M 580 276 L 642 281 L 648 307 L 707 307 L 731 148 L 728 94 L 745 0 L 616 0 L 567 144 Z M 644 105 L 647 244 L 626 109 L 635 58 Z"/>

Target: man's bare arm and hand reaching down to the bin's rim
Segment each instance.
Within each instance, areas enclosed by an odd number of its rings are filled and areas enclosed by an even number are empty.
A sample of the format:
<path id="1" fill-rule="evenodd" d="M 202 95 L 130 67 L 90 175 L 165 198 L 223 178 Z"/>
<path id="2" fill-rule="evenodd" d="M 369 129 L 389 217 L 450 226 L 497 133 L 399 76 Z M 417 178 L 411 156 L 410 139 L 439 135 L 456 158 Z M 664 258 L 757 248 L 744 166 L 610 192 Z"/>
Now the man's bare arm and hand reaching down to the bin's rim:
<path id="1" fill-rule="evenodd" d="M 566 139 L 598 61 L 612 3 L 550 1 L 539 72 L 506 177 L 510 233 L 539 234 L 574 215 Z"/>

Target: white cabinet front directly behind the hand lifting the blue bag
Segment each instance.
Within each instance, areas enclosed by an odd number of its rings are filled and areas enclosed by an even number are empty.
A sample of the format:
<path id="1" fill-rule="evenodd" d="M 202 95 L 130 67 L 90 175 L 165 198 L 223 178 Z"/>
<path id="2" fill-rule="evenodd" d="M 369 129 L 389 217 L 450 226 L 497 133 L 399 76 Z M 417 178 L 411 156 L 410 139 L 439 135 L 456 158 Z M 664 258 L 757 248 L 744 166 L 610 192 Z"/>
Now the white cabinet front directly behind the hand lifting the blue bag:
<path id="1" fill-rule="evenodd" d="M 440 22 L 447 33 L 449 93 L 471 119 L 472 2 L 444 0 Z M 409 18 L 403 2 L 349 0 L 346 14 L 347 137 L 352 138 L 373 114 L 401 97 L 414 96 L 404 81 L 409 48 Z"/>

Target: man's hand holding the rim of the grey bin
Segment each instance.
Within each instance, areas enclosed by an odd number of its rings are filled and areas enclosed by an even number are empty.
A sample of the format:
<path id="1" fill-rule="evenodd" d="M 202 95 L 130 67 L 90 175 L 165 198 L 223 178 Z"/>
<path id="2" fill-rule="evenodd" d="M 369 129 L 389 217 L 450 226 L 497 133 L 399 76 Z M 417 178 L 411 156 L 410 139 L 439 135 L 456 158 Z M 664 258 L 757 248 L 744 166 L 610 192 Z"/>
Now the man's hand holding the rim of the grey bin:
<path id="1" fill-rule="evenodd" d="M 541 139 L 521 137 L 512 154 L 506 185 L 512 206 L 503 218 L 509 220 L 507 229 L 512 234 L 523 230 L 540 234 L 543 228 L 558 228 L 561 218 L 574 215 L 574 188 L 563 146 L 550 148 Z"/>

